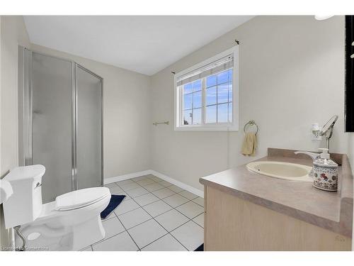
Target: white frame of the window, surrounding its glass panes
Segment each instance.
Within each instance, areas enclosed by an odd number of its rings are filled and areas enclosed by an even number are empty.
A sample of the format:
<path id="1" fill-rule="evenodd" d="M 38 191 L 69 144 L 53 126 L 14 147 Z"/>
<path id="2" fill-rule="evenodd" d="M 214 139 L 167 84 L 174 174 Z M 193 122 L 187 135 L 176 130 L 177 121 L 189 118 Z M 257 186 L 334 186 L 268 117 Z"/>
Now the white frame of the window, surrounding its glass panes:
<path id="1" fill-rule="evenodd" d="M 178 77 L 193 72 L 200 67 L 208 65 L 227 55 L 234 55 L 234 65 L 232 67 L 232 123 L 205 123 L 205 78 L 202 79 L 202 121 L 201 125 L 183 124 L 183 89 L 177 86 Z M 182 85 L 183 86 L 183 85 Z M 175 131 L 239 131 L 239 46 L 220 52 L 219 54 L 204 60 L 193 67 L 178 72 L 173 79 L 174 89 L 174 130 Z"/>

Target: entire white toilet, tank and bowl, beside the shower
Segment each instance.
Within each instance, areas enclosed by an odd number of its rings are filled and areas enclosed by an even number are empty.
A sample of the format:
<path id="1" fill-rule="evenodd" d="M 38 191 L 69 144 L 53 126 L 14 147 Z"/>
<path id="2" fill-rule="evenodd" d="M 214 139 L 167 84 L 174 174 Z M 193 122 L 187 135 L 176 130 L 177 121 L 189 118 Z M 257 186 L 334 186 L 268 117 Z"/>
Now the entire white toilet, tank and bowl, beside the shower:
<path id="1" fill-rule="evenodd" d="M 103 239 L 100 214 L 110 201 L 109 189 L 79 189 L 42 204 L 44 173 L 44 166 L 30 165 L 4 177 L 13 189 L 4 202 L 6 228 L 21 226 L 28 250 L 81 250 Z"/>

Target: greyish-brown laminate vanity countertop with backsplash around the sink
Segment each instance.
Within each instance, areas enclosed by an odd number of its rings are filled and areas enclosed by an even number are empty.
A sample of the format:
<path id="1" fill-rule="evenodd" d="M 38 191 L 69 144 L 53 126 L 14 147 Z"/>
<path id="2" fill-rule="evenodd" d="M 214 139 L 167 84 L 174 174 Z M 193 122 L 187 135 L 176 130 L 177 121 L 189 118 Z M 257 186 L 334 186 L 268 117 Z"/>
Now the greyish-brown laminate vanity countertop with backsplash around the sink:
<path id="1" fill-rule="evenodd" d="M 312 166 L 310 157 L 294 152 L 268 148 L 268 156 L 258 160 Z M 339 165 L 338 192 L 316 189 L 310 182 L 266 177 L 247 170 L 246 165 L 202 177 L 200 183 L 351 238 L 353 174 L 347 155 L 333 154 L 332 159 Z"/>

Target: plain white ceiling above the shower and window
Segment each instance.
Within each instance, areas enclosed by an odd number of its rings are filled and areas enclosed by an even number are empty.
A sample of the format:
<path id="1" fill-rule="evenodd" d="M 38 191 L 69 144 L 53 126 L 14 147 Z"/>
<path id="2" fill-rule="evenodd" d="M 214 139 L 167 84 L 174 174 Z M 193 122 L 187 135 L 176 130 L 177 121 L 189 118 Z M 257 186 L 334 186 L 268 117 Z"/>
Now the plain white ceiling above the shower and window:
<path id="1" fill-rule="evenodd" d="M 30 42 L 152 75 L 253 16 L 24 16 Z"/>

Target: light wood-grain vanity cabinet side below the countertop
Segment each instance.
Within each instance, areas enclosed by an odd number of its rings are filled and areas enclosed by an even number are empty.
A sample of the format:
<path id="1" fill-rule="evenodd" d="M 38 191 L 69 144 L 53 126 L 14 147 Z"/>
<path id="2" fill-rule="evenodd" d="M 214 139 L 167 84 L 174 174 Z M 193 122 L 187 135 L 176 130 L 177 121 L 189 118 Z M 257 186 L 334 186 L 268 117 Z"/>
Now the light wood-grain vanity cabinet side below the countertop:
<path id="1" fill-rule="evenodd" d="M 344 235 L 205 185 L 206 251 L 351 250 L 351 243 Z"/>

